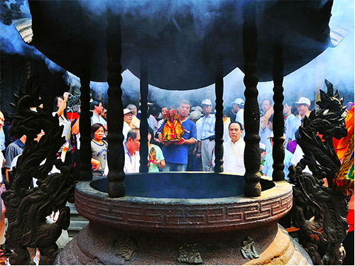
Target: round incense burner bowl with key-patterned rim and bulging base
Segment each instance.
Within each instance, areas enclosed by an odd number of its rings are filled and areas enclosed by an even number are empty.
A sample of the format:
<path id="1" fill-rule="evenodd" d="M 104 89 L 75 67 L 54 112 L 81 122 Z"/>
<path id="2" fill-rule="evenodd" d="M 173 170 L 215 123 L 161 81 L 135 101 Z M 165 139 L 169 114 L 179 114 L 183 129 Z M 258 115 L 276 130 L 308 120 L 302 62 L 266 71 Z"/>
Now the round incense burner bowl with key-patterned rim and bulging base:
<path id="1" fill-rule="evenodd" d="M 107 182 L 77 184 L 75 206 L 90 222 L 56 264 L 312 264 L 278 225 L 292 207 L 288 182 L 261 179 L 261 196 L 250 198 L 234 174 L 127 174 L 119 199 L 109 197 Z"/>

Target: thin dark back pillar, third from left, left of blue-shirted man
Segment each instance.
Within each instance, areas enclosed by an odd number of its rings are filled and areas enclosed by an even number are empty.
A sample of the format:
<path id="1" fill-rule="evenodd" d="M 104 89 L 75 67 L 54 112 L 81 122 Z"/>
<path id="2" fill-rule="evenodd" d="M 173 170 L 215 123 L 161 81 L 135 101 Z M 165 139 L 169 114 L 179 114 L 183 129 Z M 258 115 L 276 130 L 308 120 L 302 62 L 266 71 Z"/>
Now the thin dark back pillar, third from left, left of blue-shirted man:
<path id="1" fill-rule="evenodd" d="M 141 146 L 139 155 L 141 157 L 141 165 L 139 172 L 148 172 L 148 66 L 146 58 L 141 56 L 141 127 L 139 129 L 141 135 Z M 152 139 L 154 136 L 152 135 Z"/>

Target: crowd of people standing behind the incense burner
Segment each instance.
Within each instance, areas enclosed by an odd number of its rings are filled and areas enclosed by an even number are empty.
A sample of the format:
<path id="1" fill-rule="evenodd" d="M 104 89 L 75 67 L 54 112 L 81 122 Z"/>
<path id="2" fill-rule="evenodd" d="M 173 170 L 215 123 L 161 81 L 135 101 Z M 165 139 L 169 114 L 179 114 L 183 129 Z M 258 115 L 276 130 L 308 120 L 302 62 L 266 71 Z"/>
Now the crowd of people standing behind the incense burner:
<path id="1" fill-rule="evenodd" d="M 66 164 L 74 165 L 75 171 L 80 169 L 80 109 L 74 120 L 67 115 L 67 99 L 69 94 L 58 96 L 53 104 L 53 116 L 58 115 L 58 122 L 63 126 L 62 137 L 66 142 L 58 151 L 58 158 Z M 233 109 L 223 111 L 224 128 L 224 172 L 244 174 L 244 99 L 237 98 L 233 102 Z M 302 149 L 296 143 L 299 135 L 298 128 L 302 125 L 305 116 L 310 115 L 310 99 L 300 97 L 296 102 L 288 101 L 283 103 L 283 114 L 285 119 L 285 179 L 288 179 L 288 167 L 297 165 L 302 159 Z M 354 103 L 349 103 L 347 110 Z M 273 174 L 273 101 L 263 99 L 261 101 L 260 117 L 260 143 L 261 152 L 260 173 L 271 177 Z M 91 125 L 92 125 L 92 176 L 93 179 L 107 175 L 109 165 L 107 164 L 107 151 L 109 142 L 107 135 L 107 109 L 104 109 L 102 102 L 93 99 L 90 103 Z M 168 123 L 165 115 L 171 112 L 172 108 L 158 106 L 148 103 L 148 170 L 149 172 L 173 172 L 173 171 L 213 171 L 214 169 L 214 145 L 215 145 L 215 123 L 216 116 L 214 106 L 210 99 L 204 99 L 200 106 L 192 106 L 190 101 L 184 99 L 177 103 L 175 112 L 178 114 L 178 121 L 183 128 L 183 134 L 179 141 L 164 140 L 163 129 Z M 124 113 L 124 172 L 139 172 L 140 168 L 140 131 L 141 111 L 136 105 L 128 104 L 123 110 Z M 71 116 L 72 117 L 72 116 Z M 16 159 L 21 155 L 26 143 L 26 135 L 19 139 L 9 141 L 9 127 L 4 133 L 4 115 L 0 111 L 0 162 L 4 179 L 9 180 L 9 171 L 16 165 Z M 173 124 L 172 124 L 173 125 Z M 40 133 L 37 140 L 39 141 Z M 6 137 L 5 137 L 6 135 Z M 10 142 L 10 143 L 9 143 Z M 55 167 L 54 167 L 55 168 Z M 55 169 L 53 168 L 53 172 Z M 2 180 L 1 180 L 2 181 Z M 1 182 L 1 191 L 4 190 L 4 182 Z M 33 182 L 33 186 L 35 186 Z M 5 206 L 3 204 L 4 213 Z M 5 253 L 3 244 L 4 238 L 4 214 L 0 223 L 0 253 Z M 0 254 L 1 255 L 1 254 Z"/>

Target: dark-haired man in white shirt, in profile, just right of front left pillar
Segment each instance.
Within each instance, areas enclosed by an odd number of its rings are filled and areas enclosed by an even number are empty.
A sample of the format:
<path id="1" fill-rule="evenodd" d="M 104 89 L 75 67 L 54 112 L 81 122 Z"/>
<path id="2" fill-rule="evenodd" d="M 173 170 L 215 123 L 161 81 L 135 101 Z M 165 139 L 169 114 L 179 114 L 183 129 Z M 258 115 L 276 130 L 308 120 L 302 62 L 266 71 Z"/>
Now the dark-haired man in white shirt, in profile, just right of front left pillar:
<path id="1" fill-rule="evenodd" d="M 141 145 L 139 135 L 139 129 L 132 129 L 127 134 L 127 141 L 124 143 L 124 172 L 126 174 L 139 172 L 139 166 L 141 165 L 139 160 L 139 147 Z"/>

